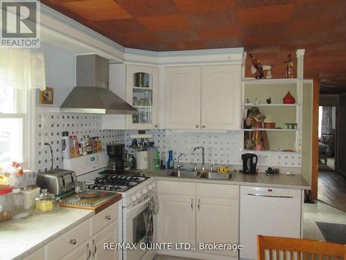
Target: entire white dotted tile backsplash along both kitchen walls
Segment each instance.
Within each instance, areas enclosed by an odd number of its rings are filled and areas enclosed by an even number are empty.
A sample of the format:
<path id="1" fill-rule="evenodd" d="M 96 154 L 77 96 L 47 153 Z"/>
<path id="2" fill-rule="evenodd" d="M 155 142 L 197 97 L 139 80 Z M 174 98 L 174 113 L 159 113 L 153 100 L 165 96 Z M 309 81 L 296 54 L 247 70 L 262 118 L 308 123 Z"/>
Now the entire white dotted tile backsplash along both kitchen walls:
<path id="1" fill-rule="evenodd" d="M 101 115 L 61 113 L 59 110 L 38 108 L 36 112 L 36 170 L 45 171 L 51 167 L 51 152 L 53 148 L 53 167 L 62 167 L 62 132 L 77 135 L 81 140 L 84 135 L 100 137 L 102 148 L 107 144 L 125 143 L 126 149 L 131 144 L 130 135 L 136 130 L 100 130 Z M 201 150 L 196 155 L 192 150 L 196 146 L 205 148 L 206 164 L 242 164 L 241 155 L 243 132 L 183 132 L 177 130 L 147 130 L 158 150 L 166 152 L 172 149 L 174 161 L 180 153 L 185 153 L 181 162 L 201 163 Z M 300 168 L 301 157 L 298 153 L 257 153 L 258 166 Z"/>

